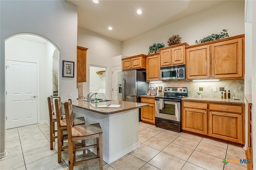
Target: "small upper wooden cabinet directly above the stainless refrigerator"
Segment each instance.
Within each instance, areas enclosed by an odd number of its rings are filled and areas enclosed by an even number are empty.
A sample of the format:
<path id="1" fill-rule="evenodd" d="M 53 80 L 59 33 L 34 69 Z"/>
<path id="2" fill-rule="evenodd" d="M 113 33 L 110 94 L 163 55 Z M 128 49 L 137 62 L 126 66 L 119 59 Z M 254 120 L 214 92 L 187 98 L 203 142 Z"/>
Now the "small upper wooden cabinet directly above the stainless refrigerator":
<path id="1" fill-rule="evenodd" d="M 146 55 L 122 58 L 122 70 L 146 69 Z"/>

